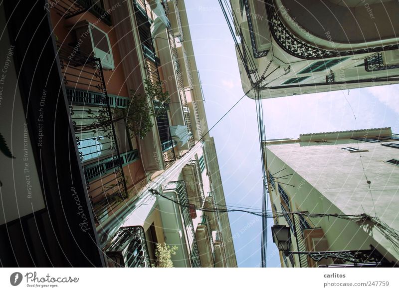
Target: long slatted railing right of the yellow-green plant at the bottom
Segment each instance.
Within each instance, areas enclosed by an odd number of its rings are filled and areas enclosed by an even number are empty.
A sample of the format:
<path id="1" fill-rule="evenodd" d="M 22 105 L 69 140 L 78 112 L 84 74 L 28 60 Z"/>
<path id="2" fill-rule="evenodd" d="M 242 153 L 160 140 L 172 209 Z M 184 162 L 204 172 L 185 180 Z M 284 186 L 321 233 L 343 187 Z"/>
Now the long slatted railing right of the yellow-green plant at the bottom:
<path id="1" fill-rule="evenodd" d="M 185 236 L 188 242 L 191 266 L 193 268 L 200 268 L 200 253 L 198 251 L 196 232 L 194 230 L 194 224 L 190 214 L 189 196 L 186 190 L 186 183 L 184 181 L 170 182 L 168 184 L 168 190 L 176 190 L 178 194 L 178 200 L 180 203 L 179 208 L 183 215 Z"/>

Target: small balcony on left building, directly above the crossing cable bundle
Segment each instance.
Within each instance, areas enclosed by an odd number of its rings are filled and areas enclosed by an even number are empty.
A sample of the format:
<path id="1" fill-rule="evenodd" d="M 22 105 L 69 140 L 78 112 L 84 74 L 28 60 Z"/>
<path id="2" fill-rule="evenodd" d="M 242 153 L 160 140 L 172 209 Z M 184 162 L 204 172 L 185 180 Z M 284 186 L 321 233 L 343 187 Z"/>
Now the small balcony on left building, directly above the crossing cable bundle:
<path id="1" fill-rule="evenodd" d="M 205 199 L 202 177 L 197 160 L 192 160 L 183 168 L 183 178 L 186 182 L 189 203 L 202 208 Z"/>

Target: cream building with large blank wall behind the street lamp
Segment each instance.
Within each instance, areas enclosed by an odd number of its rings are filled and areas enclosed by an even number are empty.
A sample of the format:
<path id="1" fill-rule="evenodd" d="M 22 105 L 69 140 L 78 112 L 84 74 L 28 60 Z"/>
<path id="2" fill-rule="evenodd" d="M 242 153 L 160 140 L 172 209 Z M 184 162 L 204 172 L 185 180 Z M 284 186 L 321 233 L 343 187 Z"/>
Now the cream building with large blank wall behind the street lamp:
<path id="1" fill-rule="evenodd" d="M 398 239 L 391 241 L 365 217 L 378 218 L 388 229 L 399 229 L 398 147 L 399 135 L 393 134 L 391 128 L 302 134 L 298 139 L 265 141 L 274 225 L 290 228 L 291 252 L 375 249 L 382 265 L 398 265 Z M 306 213 L 362 215 L 362 220 L 312 217 Z M 283 252 L 280 260 L 282 267 L 353 266 L 343 259 L 316 262 L 306 254 Z M 363 262 L 378 266 L 375 259 Z"/>

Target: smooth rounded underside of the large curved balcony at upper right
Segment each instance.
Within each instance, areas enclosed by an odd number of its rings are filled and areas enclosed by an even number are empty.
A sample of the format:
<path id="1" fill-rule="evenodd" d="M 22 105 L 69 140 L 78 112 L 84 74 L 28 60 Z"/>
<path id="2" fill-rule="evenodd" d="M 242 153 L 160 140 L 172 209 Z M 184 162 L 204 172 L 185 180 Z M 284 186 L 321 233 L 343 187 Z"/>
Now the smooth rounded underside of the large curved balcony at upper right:
<path id="1" fill-rule="evenodd" d="M 275 2 L 278 7 L 282 7 L 279 5 L 282 3 L 284 8 L 280 11 L 286 15 L 285 19 L 295 19 L 297 27 L 327 41 L 332 39 L 337 43 L 384 42 L 386 39 L 395 39 L 398 35 L 399 22 L 387 21 L 399 15 L 399 3 L 396 0 L 367 4 L 350 0 L 341 1 L 339 4 L 333 0 Z M 352 2 L 356 2 L 355 5 Z M 292 25 L 289 20 L 285 23 L 287 26 Z"/>

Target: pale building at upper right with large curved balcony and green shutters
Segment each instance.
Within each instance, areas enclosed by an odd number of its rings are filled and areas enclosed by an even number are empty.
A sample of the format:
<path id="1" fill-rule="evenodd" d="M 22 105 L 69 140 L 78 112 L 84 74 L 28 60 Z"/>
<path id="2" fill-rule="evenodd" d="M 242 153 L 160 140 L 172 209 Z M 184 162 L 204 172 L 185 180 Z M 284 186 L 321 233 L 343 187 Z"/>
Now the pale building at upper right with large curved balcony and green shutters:
<path id="1" fill-rule="evenodd" d="M 244 92 L 272 98 L 398 83 L 399 3 L 231 0 Z"/>

